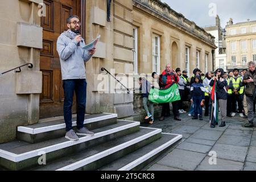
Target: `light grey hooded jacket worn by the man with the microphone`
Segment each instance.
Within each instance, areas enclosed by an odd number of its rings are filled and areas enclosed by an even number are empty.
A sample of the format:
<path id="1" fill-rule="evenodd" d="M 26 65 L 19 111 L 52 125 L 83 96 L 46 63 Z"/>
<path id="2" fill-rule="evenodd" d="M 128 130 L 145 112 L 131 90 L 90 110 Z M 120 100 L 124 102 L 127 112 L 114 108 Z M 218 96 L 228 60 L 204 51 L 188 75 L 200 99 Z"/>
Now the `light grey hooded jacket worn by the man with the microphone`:
<path id="1" fill-rule="evenodd" d="M 80 46 L 77 46 L 75 37 L 76 34 L 68 30 L 63 32 L 57 40 L 62 80 L 86 78 L 84 63 L 89 61 L 92 55 L 82 49 L 85 46 L 84 41 L 80 42 Z"/>

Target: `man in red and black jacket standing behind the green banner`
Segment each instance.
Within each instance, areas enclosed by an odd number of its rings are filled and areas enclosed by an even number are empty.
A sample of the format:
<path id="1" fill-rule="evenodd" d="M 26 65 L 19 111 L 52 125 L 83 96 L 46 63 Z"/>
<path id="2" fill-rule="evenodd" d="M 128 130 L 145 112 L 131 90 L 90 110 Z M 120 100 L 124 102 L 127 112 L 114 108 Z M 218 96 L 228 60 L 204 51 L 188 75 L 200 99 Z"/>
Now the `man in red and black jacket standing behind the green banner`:
<path id="1" fill-rule="evenodd" d="M 161 81 L 164 84 L 164 88 L 168 88 L 172 84 L 174 84 L 174 83 L 177 84 L 177 82 L 179 82 L 179 76 L 174 71 L 174 69 L 171 69 L 170 64 L 166 65 L 166 69 L 163 71 L 161 79 L 162 79 Z M 162 115 L 161 115 L 160 121 L 164 120 L 164 116 L 170 114 L 170 110 L 168 110 L 168 108 L 170 108 L 169 103 L 163 104 Z M 179 118 L 179 115 L 180 115 L 179 114 L 179 101 L 172 102 L 172 113 L 174 113 L 175 120 L 181 121 L 181 119 Z"/>

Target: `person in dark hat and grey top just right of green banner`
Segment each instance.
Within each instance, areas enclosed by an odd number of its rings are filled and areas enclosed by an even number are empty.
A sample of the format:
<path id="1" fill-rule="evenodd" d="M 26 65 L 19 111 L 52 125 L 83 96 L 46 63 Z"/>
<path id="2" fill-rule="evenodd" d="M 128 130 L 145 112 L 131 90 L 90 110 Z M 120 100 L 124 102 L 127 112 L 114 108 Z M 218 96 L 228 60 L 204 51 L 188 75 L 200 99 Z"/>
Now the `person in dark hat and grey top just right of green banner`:
<path id="1" fill-rule="evenodd" d="M 182 109 L 183 106 L 183 99 L 184 99 L 184 93 L 185 93 L 185 86 L 187 86 L 187 81 L 184 80 L 184 78 L 181 76 L 181 70 L 177 68 L 175 70 L 177 75 L 179 76 L 179 82 L 177 82 L 179 93 L 180 93 L 180 101 L 179 101 L 179 113 L 187 113 L 184 109 Z"/>

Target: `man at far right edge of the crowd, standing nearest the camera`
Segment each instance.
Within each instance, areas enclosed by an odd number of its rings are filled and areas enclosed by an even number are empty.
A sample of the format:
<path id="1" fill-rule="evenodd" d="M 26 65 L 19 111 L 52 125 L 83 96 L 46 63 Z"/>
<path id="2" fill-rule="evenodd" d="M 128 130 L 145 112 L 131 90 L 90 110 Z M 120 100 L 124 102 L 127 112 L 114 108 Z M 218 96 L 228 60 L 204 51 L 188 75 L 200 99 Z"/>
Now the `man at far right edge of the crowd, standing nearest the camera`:
<path id="1" fill-rule="evenodd" d="M 250 61 L 248 63 L 249 71 L 247 71 L 243 76 L 242 85 L 245 86 L 245 96 L 248 107 L 248 123 L 243 125 L 243 127 L 256 127 L 256 123 L 254 120 L 253 113 L 253 105 L 255 101 L 255 85 L 256 85 L 256 71 L 255 71 L 255 63 Z"/>

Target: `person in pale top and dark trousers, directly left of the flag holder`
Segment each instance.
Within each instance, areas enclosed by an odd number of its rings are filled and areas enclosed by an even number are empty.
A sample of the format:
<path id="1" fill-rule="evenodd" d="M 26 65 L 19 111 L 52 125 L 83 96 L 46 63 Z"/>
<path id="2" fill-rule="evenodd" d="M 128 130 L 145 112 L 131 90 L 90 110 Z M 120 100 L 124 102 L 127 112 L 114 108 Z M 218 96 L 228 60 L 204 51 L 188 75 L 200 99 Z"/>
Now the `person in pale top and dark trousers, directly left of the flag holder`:
<path id="1" fill-rule="evenodd" d="M 203 85 L 205 88 L 205 113 L 204 116 L 207 117 L 209 115 L 209 102 L 210 102 L 210 94 L 212 93 L 212 86 L 210 86 L 210 81 L 212 81 L 212 74 L 210 72 L 206 73 L 205 79 L 203 81 Z"/>

